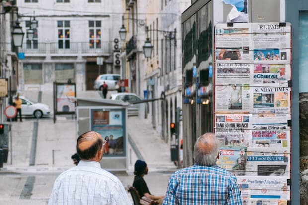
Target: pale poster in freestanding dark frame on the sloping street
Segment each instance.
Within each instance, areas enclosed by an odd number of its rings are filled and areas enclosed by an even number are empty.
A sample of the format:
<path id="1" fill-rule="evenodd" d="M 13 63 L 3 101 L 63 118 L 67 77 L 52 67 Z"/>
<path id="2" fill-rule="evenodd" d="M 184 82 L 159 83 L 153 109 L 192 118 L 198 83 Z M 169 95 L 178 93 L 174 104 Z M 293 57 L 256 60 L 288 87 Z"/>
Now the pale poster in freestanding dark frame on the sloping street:
<path id="1" fill-rule="evenodd" d="M 57 112 L 75 112 L 75 84 L 56 84 Z"/>

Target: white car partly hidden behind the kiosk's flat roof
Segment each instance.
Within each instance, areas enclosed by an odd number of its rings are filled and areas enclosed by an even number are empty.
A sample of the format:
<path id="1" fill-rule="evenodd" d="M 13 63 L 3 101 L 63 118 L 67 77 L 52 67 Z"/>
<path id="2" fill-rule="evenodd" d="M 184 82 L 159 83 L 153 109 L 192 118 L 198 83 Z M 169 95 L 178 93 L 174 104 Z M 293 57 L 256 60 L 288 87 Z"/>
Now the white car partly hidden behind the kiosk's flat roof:
<path id="1" fill-rule="evenodd" d="M 111 100 L 122 100 L 124 102 L 142 100 L 142 98 L 140 98 L 135 93 L 126 93 L 126 92 L 111 94 L 110 99 Z M 129 116 L 138 115 L 139 107 L 140 107 L 140 104 L 131 104 L 127 108 L 128 115 Z"/>

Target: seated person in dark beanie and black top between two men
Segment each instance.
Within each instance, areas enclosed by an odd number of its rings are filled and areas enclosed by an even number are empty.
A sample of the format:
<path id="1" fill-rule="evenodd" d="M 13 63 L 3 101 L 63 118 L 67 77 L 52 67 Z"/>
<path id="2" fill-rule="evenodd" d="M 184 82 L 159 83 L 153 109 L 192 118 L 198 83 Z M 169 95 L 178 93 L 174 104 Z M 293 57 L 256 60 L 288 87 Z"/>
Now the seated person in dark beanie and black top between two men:
<path id="1" fill-rule="evenodd" d="M 152 195 L 149 191 L 148 185 L 146 181 L 144 180 L 144 175 L 148 174 L 148 166 L 145 161 L 137 160 L 135 162 L 135 178 L 133 182 L 133 187 L 135 187 L 140 195 L 140 197 L 148 197 L 150 199 L 156 200 L 156 202 L 161 205 L 163 202 L 163 195 Z"/>

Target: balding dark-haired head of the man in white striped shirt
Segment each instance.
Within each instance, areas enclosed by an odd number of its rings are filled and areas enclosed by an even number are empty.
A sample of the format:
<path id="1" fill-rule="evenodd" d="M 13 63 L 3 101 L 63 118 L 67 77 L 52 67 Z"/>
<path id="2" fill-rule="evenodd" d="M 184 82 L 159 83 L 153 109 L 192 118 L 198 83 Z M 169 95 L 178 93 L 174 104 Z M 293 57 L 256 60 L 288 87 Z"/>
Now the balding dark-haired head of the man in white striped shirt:
<path id="1" fill-rule="evenodd" d="M 99 133 L 88 131 L 77 139 L 77 153 L 81 159 L 90 160 L 96 157 L 98 151 L 103 147 L 103 140 Z"/>

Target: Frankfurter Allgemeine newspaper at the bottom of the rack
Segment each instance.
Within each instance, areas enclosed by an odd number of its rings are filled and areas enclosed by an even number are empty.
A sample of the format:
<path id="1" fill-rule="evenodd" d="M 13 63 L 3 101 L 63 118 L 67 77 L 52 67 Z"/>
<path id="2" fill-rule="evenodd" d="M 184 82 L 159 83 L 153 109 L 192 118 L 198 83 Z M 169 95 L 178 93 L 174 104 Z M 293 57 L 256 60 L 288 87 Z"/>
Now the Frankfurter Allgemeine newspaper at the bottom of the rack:
<path id="1" fill-rule="evenodd" d="M 287 177 L 237 176 L 237 182 L 250 183 L 250 204 L 257 200 L 290 200 Z M 282 201 L 284 202 L 284 201 Z M 263 205 L 263 204 L 262 204 Z"/>

